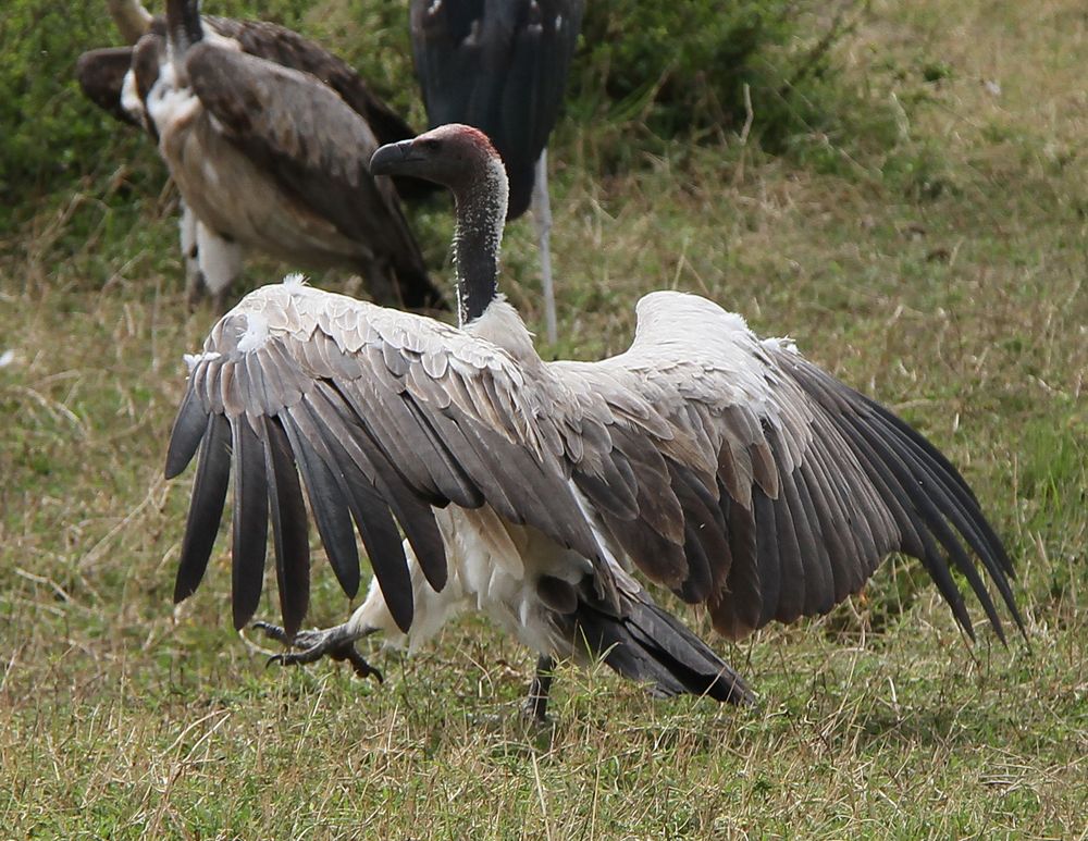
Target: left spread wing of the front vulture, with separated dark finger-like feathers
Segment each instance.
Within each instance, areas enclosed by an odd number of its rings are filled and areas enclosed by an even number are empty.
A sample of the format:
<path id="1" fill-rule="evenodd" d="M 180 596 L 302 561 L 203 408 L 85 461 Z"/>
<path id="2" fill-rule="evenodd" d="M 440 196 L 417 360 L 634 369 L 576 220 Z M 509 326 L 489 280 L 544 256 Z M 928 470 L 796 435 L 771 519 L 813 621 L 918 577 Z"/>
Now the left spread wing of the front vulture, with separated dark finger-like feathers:
<path id="1" fill-rule="evenodd" d="M 490 343 L 285 283 L 247 296 L 191 364 L 166 455 L 171 478 L 200 453 L 175 598 L 200 582 L 233 471 L 237 628 L 258 605 L 270 521 L 284 628 L 293 634 L 302 621 L 304 488 L 345 591 L 354 595 L 359 581 L 354 521 L 404 630 L 412 589 L 396 524 L 441 590 L 446 556 L 432 506 L 486 503 L 588 558 L 598 556 L 565 466 L 554 452 L 527 443 L 540 413 L 532 388 Z"/>

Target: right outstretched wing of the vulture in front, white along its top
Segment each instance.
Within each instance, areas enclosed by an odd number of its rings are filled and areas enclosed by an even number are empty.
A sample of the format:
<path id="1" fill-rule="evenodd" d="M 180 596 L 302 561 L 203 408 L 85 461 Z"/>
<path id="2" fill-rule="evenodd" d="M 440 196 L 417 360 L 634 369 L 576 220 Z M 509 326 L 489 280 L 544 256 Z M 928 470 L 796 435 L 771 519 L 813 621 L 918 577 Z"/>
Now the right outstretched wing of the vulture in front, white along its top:
<path id="1" fill-rule="evenodd" d="M 703 298 L 655 293 L 631 349 L 554 363 L 607 436 L 576 461 L 613 549 L 740 636 L 823 614 L 888 554 L 919 558 L 973 635 L 957 569 L 1003 639 L 1012 564 L 964 479 L 879 404 Z M 974 557 L 972 557 L 974 556 Z"/>

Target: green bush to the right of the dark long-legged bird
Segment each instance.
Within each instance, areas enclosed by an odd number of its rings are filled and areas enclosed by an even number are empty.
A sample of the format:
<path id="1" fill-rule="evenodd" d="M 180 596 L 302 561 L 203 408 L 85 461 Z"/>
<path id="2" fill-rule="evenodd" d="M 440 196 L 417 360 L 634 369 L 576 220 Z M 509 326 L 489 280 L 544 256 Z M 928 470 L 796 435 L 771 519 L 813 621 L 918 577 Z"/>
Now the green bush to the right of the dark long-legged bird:
<path id="1" fill-rule="evenodd" d="M 846 0 L 684 0 L 589 4 L 572 90 L 586 115 L 639 123 L 663 139 L 720 137 L 746 123 L 778 153 L 833 128 L 842 91 L 833 47 L 861 8 Z"/>

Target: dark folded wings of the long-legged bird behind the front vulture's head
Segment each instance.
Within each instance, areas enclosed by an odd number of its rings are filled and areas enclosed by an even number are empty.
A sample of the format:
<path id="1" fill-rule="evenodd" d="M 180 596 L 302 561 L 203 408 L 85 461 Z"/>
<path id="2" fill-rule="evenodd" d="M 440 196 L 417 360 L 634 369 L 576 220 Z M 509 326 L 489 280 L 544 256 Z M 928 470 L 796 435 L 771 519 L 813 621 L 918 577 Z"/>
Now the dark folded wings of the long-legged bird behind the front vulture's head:
<path id="1" fill-rule="evenodd" d="M 526 212 L 533 166 L 555 126 L 582 0 L 412 0 L 416 74 L 431 126 L 486 134 L 510 178 L 507 218 Z"/>

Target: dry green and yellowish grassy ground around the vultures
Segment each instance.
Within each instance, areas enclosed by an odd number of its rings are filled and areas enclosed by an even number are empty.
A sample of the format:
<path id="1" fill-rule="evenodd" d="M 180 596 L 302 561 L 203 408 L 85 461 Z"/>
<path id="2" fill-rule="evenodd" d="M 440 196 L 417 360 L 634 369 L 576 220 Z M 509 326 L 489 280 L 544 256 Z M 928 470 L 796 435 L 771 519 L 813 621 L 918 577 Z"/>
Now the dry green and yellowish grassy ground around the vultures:
<path id="1" fill-rule="evenodd" d="M 966 645 L 903 562 L 719 644 L 759 709 L 564 668 L 554 731 L 524 733 L 531 658 L 471 618 L 376 654 L 381 687 L 268 671 L 222 545 L 171 610 L 189 479 L 161 462 L 211 317 L 185 313 L 169 193 L 50 205 L 0 263 L 0 837 L 1085 837 L 1086 27 L 1076 0 L 875 2 L 841 59 L 899 109 L 880 151 L 734 139 L 602 176 L 608 135 L 560 133 L 546 355 L 622 349 L 648 289 L 708 294 L 931 436 L 1021 570 L 1030 650 Z M 504 286 L 539 323 L 531 238 Z M 311 619 L 339 621 L 318 578 Z"/>

